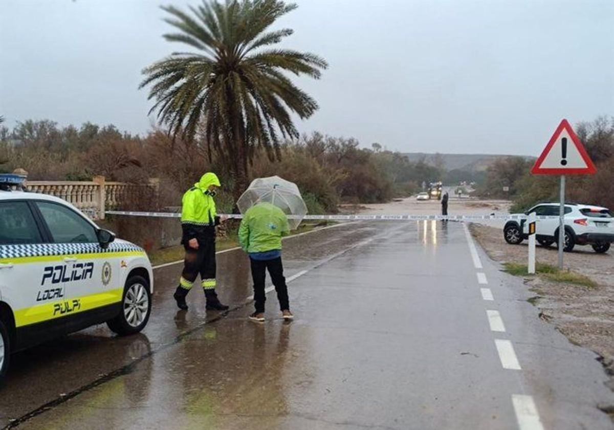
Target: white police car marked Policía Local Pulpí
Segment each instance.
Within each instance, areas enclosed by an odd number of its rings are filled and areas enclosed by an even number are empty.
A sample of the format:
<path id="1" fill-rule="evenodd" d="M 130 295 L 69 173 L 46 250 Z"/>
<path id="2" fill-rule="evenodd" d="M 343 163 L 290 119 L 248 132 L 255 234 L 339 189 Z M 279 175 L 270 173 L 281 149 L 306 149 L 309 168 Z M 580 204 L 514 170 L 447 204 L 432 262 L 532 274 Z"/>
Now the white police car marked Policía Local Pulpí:
<path id="1" fill-rule="evenodd" d="M 21 182 L 0 174 L 0 378 L 10 354 L 53 337 L 102 322 L 138 333 L 152 304 L 143 249 Z"/>

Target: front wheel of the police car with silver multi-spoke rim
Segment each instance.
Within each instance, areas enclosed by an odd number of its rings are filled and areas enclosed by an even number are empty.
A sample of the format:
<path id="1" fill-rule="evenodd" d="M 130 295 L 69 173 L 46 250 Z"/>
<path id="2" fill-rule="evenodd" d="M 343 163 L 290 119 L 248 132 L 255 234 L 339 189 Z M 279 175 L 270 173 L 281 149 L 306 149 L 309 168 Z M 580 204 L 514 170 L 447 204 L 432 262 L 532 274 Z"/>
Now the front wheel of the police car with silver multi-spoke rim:
<path id="1" fill-rule="evenodd" d="M 112 332 L 126 336 L 140 332 L 149 321 L 152 297 L 149 283 L 142 276 L 131 276 L 123 290 L 122 310 L 107 321 Z"/>

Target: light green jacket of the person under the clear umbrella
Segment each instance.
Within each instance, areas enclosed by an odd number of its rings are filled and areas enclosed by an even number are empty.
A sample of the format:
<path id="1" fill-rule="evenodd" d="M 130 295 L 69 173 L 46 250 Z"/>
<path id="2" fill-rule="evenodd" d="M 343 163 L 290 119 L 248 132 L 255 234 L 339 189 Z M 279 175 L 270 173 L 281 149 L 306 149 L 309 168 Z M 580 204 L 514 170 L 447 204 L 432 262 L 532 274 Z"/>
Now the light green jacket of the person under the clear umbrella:
<path id="1" fill-rule="evenodd" d="M 271 203 L 257 203 L 243 216 L 239 243 L 248 253 L 281 249 L 281 238 L 290 233 L 284 211 Z"/>

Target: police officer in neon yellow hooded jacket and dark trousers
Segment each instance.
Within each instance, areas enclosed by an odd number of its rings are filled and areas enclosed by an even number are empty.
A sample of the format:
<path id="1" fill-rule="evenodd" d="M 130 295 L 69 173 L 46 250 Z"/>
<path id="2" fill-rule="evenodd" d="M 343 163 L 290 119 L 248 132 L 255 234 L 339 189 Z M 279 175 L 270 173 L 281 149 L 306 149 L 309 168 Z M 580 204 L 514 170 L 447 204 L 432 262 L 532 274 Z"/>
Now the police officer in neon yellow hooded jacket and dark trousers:
<path id="1" fill-rule="evenodd" d="M 227 310 L 216 294 L 216 225 L 217 216 L 216 188 L 220 181 L 215 173 L 205 173 L 200 181 L 185 192 L 182 199 L 181 243 L 185 248 L 184 270 L 179 278 L 179 286 L 173 297 L 177 306 L 186 310 L 185 296 L 190 292 L 196 276 L 200 273 L 201 285 L 207 299 L 208 310 Z"/>

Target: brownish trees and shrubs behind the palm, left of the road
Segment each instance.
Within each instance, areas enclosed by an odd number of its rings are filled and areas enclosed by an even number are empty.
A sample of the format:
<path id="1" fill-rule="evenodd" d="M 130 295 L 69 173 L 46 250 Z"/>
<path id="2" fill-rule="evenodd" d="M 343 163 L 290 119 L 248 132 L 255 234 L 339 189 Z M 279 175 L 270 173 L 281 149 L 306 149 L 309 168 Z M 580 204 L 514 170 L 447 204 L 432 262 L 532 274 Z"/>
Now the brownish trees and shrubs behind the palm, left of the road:
<path id="1" fill-rule="evenodd" d="M 286 139 L 279 158 L 255 148 L 247 180 L 277 174 L 296 182 L 311 213 L 334 212 L 340 203 L 381 203 L 406 197 L 422 182 L 436 181 L 443 172 L 419 160 L 388 151 L 379 144 L 361 147 L 357 139 L 322 133 Z M 160 204 L 178 206 L 185 189 L 204 171 L 216 171 L 223 182 L 220 205 L 232 209 L 236 177 L 223 157 L 209 154 L 203 139 L 182 139 L 166 131 L 147 136 L 122 132 L 114 125 L 90 122 L 60 127 L 51 120 L 26 120 L 14 128 L 0 127 L 0 172 L 24 168 L 30 180 L 146 182 L 160 179 Z M 152 209 L 148 201 L 131 208 Z"/>

